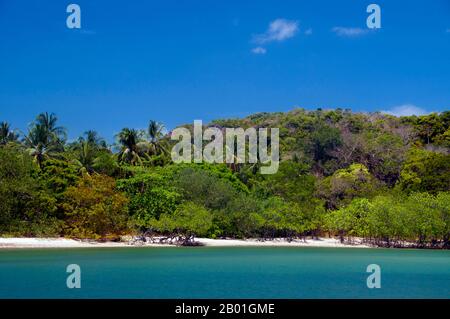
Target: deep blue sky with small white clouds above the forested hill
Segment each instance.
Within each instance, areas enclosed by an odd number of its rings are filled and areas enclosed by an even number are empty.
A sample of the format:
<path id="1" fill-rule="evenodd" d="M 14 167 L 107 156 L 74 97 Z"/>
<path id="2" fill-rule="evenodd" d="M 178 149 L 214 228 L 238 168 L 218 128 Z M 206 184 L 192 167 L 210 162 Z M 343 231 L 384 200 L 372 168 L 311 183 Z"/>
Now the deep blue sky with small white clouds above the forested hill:
<path id="1" fill-rule="evenodd" d="M 366 27 L 366 6 L 382 28 Z M 80 30 L 66 6 L 81 7 Z M 0 0 L 0 120 L 75 138 L 149 119 L 450 109 L 450 1 Z"/>

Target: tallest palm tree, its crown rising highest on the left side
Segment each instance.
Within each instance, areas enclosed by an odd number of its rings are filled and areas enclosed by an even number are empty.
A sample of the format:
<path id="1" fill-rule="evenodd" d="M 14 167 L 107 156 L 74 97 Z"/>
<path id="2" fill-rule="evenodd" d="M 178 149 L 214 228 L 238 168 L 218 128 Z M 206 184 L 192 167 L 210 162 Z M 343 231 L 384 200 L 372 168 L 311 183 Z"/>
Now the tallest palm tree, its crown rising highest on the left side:
<path id="1" fill-rule="evenodd" d="M 41 113 L 28 128 L 24 144 L 39 167 L 45 159 L 54 157 L 64 151 L 66 130 L 56 126 L 58 118 L 55 114 Z"/>

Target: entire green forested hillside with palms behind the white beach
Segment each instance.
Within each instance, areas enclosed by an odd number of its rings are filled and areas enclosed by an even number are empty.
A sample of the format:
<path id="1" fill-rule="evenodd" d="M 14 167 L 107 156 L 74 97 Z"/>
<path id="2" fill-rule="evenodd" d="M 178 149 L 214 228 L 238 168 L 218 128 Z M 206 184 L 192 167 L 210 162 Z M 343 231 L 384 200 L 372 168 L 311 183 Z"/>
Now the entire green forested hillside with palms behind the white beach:
<path id="1" fill-rule="evenodd" d="M 339 236 L 450 247 L 450 112 L 258 113 L 218 128 L 280 129 L 279 170 L 173 164 L 164 126 L 67 141 L 54 114 L 0 123 L 0 235 L 116 239 Z M 192 129 L 190 125 L 185 127 Z"/>

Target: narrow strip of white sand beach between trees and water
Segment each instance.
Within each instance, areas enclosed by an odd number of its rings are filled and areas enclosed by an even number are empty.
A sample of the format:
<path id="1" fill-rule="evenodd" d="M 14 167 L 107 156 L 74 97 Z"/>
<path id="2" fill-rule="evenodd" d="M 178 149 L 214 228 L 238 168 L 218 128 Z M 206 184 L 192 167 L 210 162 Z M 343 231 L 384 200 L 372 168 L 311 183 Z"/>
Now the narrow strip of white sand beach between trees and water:
<path id="1" fill-rule="evenodd" d="M 210 239 L 195 238 L 200 247 L 323 247 L 323 248 L 376 248 L 360 243 L 341 243 L 336 238 L 320 237 L 318 239 L 292 240 L 284 238 L 271 240 L 259 239 Z M 33 248 L 119 248 L 119 247 L 183 247 L 167 243 L 136 242 L 132 238 L 120 242 L 99 242 L 94 240 L 75 240 L 67 238 L 0 238 L 1 249 L 33 249 Z"/>

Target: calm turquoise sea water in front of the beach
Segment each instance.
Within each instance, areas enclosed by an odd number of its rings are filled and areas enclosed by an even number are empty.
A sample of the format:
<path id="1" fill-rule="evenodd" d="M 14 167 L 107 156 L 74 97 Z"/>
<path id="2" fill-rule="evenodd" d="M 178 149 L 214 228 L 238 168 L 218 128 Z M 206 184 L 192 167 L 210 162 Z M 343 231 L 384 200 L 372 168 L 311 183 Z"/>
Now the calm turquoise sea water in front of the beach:
<path id="1" fill-rule="evenodd" d="M 81 267 L 68 289 L 66 267 Z M 366 267 L 381 267 L 368 289 Z M 450 298 L 450 251 L 347 248 L 0 250 L 0 298 Z"/>

